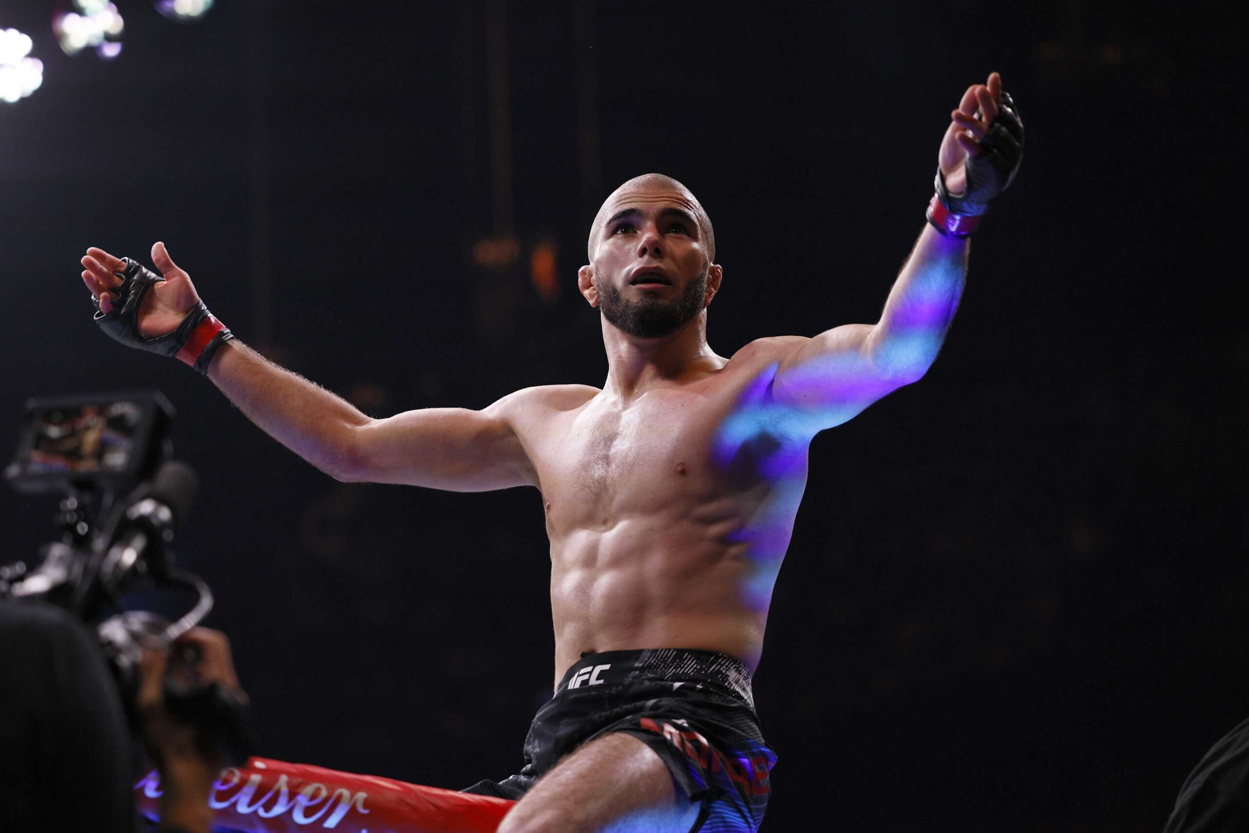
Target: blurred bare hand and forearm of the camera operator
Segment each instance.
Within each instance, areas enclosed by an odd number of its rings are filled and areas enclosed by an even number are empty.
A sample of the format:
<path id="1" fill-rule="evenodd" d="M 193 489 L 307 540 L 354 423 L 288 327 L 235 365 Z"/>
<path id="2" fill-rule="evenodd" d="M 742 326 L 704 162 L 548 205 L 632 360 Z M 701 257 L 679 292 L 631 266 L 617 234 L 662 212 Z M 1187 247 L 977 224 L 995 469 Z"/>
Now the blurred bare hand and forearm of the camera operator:
<path id="1" fill-rule="evenodd" d="M 171 653 L 175 656 L 172 668 Z M 161 824 L 206 832 L 212 816 L 209 796 L 221 774 L 222 762 L 196 727 L 169 713 L 165 682 L 216 682 L 246 699 L 230 658 L 230 641 L 220 631 L 192 628 L 169 652 L 145 651 L 139 674 L 137 708 L 144 744 L 160 771 L 165 791 L 160 803 Z"/>

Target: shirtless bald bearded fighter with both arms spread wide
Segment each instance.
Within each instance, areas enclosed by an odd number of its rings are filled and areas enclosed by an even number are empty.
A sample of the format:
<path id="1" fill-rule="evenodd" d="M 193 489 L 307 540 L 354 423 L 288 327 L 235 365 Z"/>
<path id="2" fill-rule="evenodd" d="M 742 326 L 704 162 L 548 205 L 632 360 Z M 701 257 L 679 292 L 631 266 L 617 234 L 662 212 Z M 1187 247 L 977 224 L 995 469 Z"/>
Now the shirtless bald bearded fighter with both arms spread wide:
<path id="1" fill-rule="evenodd" d="M 914 382 L 958 306 L 967 236 L 1014 176 L 1023 126 L 997 72 L 968 87 L 937 195 L 874 325 L 707 346 L 721 288 L 707 212 L 656 174 L 618 187 L 578 287 L 602 312 L 602 390 L 517 391 L 482 411 L 373 420 L 232 341 L 164 244 L 89 249 L 112 337 L 206 373 L 256 425 L 341 481 L 463 492 L 533 486 L 551 538 L 556 694 L 526 766 L 472 792 L 518 798 L 500 833 L 754 831 L 776 758 L 751 672 L 812 437 Z"/>

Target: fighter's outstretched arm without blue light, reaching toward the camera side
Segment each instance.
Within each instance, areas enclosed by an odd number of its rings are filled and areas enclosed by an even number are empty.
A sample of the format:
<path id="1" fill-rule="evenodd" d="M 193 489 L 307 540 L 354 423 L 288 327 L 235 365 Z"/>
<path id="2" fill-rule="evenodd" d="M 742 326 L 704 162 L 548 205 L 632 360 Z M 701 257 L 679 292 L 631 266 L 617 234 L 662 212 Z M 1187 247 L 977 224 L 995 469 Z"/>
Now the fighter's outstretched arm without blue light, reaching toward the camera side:
<path id="1" fill-rule="evenodd" d="M 190 276 L 174 264 L 164 244 L 152 246 L 152 262 L 165 280 L 150 282 L 136 301 L 130 282 L 124 285 L 117 277 L 126 264 L 101 249 L 87 250 L 82 280 L 100 306 L 99 317 L 114 327 L 110 335 L 199 367 L 247 418 L 327 475 L 461 492 L 536 482 L 515 430 L 515 421 L 533 400 L 531 393 L 520 391 L 483 411 L 427 408 L 370 418 L 237 340 L 216 343 L 211 356 L 204 357 L 195 333 L 182 332 L 200 305 Z M 205 322 L 220 326 L 206 310 L 204 315 Z M 201 327 L 206 333 L 209 323 Z"/>

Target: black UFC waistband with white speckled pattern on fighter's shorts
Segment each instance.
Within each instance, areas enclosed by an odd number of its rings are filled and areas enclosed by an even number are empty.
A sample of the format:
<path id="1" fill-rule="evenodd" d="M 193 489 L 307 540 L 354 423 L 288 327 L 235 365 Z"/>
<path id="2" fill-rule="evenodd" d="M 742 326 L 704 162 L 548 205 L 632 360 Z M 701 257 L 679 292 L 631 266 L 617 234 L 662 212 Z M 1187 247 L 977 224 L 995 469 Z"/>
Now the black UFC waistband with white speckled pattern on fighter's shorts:
<path id="1" fill-rule="evenodd" d="M 632 681 L 712 683 L 729 689 L 754 708 L 751 669 L 746 663 L 728 654 L 694 648 L 587 653 L 568 668 L 556 694 L 565 689 Z"/>

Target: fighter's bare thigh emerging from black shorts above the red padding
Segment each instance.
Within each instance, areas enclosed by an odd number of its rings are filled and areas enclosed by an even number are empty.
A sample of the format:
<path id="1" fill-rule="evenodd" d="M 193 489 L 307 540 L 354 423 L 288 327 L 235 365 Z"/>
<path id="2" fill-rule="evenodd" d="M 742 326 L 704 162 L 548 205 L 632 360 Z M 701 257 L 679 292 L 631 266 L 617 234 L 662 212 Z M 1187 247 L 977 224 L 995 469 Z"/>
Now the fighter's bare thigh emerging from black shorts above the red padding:
<path id="1" fill-rule="evenodd" d="M 606 734 L 543 776 L 498 833 L 688 833 L 698 809 L 646 743 Z"/>

